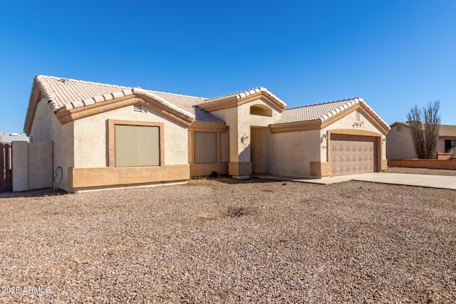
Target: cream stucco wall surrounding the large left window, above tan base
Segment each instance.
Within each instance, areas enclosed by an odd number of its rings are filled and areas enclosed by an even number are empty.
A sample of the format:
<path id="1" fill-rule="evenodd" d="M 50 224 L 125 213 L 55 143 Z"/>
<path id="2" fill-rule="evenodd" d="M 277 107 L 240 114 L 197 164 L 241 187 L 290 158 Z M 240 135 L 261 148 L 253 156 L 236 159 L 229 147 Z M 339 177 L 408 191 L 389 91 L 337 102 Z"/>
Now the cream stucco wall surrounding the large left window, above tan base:
<path id="1" fill-rule="evenodd" d="M 108 166 L 108 120 L 162 122 L 165 125 L 165 165 L 188 164 L 188 131 L 155 112 L 133 112 L 133 105 L 74 121 L 74 167 Z"/>

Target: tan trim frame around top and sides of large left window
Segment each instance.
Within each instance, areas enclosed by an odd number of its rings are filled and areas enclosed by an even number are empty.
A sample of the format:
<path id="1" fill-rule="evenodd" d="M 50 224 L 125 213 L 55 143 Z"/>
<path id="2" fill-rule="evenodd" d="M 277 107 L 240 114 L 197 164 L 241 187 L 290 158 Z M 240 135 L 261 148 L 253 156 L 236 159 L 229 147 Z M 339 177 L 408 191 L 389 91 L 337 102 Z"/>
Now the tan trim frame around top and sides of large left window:
<path id="1" fill-rule="evenodd" d="M 115 125 L 143 125 L 160 128 L 160 167 L 165 165 L 165 124 L 139 120 L 108 120 L 108 167 L 115 167 Z"/>

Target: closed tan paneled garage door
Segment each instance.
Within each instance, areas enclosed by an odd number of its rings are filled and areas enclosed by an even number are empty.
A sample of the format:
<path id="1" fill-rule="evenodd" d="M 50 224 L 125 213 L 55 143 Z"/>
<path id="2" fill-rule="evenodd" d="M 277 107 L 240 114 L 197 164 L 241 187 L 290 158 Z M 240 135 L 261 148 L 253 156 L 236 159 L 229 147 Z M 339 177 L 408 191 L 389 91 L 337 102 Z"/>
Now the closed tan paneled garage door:
<path id="1" fill-rule="evenodd" d="M 377 137 L 331 134 L 331 176 L 377 171 Z"/>

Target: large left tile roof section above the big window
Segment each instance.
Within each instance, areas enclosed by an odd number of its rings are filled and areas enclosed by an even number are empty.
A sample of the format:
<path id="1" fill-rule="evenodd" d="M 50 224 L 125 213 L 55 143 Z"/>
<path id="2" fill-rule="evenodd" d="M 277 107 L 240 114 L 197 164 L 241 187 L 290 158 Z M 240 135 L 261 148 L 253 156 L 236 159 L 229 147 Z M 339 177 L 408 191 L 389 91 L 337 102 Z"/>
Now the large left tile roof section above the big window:
<path id="1" fill-rule="evenodd" d="M 71 110 L 114 98 L 140 94 L 149 96 L 157 100 L 157 102 L 162 103 L 162 105 L 166 105 L 197 121 L 222 122 L 222 120 L 219 120 L 214 115 L 195 108 L 195 105 L 202 103 L 206 98 L 44 75 L 36 76 L 36 85 L 38 85 L 42 97 L 48 100 L 48 105 L 54 112 L 61 108 Z"/>

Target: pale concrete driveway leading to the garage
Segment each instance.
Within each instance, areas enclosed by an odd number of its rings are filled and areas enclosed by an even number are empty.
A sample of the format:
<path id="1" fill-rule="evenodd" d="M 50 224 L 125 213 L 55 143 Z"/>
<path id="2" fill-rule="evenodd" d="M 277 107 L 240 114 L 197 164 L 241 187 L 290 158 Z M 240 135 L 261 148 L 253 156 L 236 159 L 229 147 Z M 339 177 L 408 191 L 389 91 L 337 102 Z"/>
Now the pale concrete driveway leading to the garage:
<path id="1" fill-rule="evenodd" d="M 376 182 L 382 184 L 403 184 L 416 187 L 430 187 L 440 189 L 456 190 L 456 177 L 442 175 L 425 175 L 425 174 L 403 174 L 403 173 L 363 173 L 343 175 L 341 177 L 323 177 L 321 179 L 293 178 L 282 176 L 257 175 L 261 178 L 272 178 L 281 180 L 290 180 L 296 182 L 308 182 L 313 184 L 334 184 L 338 182 L 348 182 L 350 180 L 361 182 Z"/>

